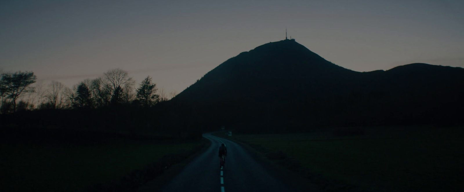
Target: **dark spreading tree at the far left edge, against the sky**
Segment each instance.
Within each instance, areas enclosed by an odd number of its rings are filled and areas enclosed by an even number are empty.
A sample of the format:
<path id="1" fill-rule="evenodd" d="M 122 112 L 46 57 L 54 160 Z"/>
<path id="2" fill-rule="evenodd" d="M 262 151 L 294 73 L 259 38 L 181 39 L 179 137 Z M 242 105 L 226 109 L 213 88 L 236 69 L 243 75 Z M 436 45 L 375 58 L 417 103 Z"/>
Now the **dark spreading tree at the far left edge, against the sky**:
<path id="1" fill-rule="evenodd" d="M 34 72 L 29 71 L 1 74 L 0 89 L 2 90 L 2 95 L 6 99 L 10 99 L 13 104 L 13 111 L 16 111 L 16 100 L 22 93 L 34 91 L 30 85 L 35 83 L 36 79 L 37 77 L 34 75 Z"/>

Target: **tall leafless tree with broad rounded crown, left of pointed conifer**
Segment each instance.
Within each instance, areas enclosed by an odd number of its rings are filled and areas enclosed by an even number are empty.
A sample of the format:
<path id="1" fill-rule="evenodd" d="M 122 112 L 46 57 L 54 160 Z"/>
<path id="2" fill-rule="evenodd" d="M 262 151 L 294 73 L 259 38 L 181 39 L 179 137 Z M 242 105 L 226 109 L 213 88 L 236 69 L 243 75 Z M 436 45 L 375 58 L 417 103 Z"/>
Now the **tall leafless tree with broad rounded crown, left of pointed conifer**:
<path id="1" fill-rule="evenodd" d="M 129 73 L 122 69 L 112 69 L 103 73 L 106 89 L 110 90 L 113 101 L 119 102 L 125 100 L 129 102 L 129 99 L 133 98 L 133 85 L 135 81 L 132 77 L 129 77 Z M 114 98 L 117 97 L 117 98 Z"/>

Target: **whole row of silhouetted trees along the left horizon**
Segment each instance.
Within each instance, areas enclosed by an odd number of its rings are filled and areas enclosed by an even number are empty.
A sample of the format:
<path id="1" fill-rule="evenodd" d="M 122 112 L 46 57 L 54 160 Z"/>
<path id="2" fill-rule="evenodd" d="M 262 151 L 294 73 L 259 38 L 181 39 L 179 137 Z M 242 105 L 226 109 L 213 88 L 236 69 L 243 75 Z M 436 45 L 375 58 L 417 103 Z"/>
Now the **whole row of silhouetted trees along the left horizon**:
<path id="1" fill-rule="evenodd" d="M 1 72 L 1 71 L 0 71 Z M 95 79 L 84 79 L 72 88 L 52 81 L 37 81 L 32 71 L 0 73 L 0 114 L 38 109 L 96 109 L 130 104 L 151 107 L 168 101 L 175 92 L 158 90 L 150 76 L 135 88 L 135 80 L 121 69 Z"/>

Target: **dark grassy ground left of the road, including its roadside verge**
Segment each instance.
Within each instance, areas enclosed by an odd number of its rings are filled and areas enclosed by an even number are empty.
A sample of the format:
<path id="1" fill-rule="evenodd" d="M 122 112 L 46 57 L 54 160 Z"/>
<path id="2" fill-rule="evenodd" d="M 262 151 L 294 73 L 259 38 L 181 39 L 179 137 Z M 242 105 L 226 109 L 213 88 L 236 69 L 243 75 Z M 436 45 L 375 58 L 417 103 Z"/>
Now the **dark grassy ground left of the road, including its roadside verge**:
<path id="1" fill-rule="evenodd" d="M 133 191 L 204 145 L 204 140 L 5 139 L 0 143 L 2 191 Z"/>

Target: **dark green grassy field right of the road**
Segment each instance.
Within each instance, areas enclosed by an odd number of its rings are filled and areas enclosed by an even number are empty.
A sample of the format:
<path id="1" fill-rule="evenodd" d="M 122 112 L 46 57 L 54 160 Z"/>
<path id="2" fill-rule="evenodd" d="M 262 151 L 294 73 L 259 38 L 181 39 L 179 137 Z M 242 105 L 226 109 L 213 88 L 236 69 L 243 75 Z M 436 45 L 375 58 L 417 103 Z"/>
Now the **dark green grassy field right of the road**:
<path id="1" fill-rule="evenodd" d="M 345 129 L 349 132 L 350 128 Z M 356 129 L 364 134 L 334 136 L 341 130 L 335 129 L 233 137 L 283 151 L 314 173 L 373 191 L 464 189 L 458 179 L 464 172 L 464 128 Z"/>

